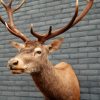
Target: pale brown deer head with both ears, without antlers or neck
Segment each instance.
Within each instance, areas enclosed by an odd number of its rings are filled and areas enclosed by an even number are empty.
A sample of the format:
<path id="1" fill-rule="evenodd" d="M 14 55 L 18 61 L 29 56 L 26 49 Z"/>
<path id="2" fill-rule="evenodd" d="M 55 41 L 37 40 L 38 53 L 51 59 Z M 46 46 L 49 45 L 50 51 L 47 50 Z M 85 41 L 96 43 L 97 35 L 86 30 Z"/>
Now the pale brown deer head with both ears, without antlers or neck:
<path id="1" fill-rule="evenodd" d="M 42 45 L 38 41 L 29 41 L 25 44 L 12 42 L 12 45 L 19 50 L 19 54 L 8 61 L 8 66 L 15 74 L 38 73 L 42 71 L 44 65 L 50 66 L 48 54 L 57 50 L 62 41 L 63 39 L 54 40 L 49 45 Z"/>

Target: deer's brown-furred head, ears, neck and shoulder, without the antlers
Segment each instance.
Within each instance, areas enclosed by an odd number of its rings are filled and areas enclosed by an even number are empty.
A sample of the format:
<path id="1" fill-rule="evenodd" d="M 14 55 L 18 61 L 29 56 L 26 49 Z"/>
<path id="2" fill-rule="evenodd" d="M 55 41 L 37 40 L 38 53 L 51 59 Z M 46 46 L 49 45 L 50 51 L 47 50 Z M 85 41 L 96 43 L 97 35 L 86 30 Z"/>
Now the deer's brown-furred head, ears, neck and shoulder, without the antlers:
<path id="1" fill-rule="evenodd" d="M 20 53 L 8 64 L 13 74 L 30 73 L 45 100 L 80 100 L 79 82 L 71 65 L 62 62 L 53 66 L 48 60 L 48 54 L 57 50 L 61 43 L 62 39 L 46 46 L 36 41 L 25 45 L 14 42 L 13 46 Z"/>

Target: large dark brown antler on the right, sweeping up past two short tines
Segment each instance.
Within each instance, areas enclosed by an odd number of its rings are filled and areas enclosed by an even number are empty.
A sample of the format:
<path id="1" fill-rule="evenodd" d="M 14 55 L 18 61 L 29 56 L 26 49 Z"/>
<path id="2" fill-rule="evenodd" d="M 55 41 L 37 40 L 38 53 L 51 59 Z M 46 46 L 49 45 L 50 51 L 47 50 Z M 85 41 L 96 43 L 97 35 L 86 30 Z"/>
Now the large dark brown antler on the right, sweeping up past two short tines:
<path id="1" fill-rule="evenodd" d="M 82 20 L 82 18 L 91 9 L 91 7 L 93 5 L 93 2 L 94 2 L 94 0 L 89 0 L 88 3 L 87 3 L 87 6 L 85 7 L 85 9 L 82 11 L 82 13 L 79 16 L 77 16 L 78 15 L 78 0 L 76 0 L 76 10 L 75 10 L 74 16 L 72 17 L 71 21 L 67 25 L 65 25 L 64 27 L 62 27 L 60 29 L 52 31 L 52 27 L 50 26 L 48 33 L 40 35 L 39 33 L 33 31 L 32 25 L 31 25 L 30 32 L 31 32 L 31 34 L 33 36 L 35 36 L 36 38 L 38 38 L 38 41 L 40 43 L 44 43 L 46 40 L 64 33 L 65 31 L 67 31 L 68 29 L 70 29 L 72 26 L 74 26 L 75 24 L 77 24 L 80 20 Z"/>

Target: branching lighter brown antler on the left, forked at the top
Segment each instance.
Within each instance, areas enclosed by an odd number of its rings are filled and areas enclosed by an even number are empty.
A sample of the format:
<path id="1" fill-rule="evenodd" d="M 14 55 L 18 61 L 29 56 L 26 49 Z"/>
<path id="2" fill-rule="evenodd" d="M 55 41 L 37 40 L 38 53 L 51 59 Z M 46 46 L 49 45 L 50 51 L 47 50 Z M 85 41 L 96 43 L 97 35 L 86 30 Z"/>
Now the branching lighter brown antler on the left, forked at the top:
<path id="1" fill-rule="evenodd" d="M 6 28 L 8 29 L 10 33 L 21 38 L 24 42 L 28 41 L 29 39 L 16 28 L 14 24 L 14 20 L 13 20 L 13 13 L 17 11 L 23 5 L 25 0 L 22 0 L 22 2 L 16 8 L 11 7 L 13 0 L 10 0 L 9 4 L 5 4 L 3 0 L 0 0 L 0 1 L 3 7 L 5 8 L 8 14 L 8 19 L 9 19 L 8 22 L 5 22 L 2 16 L 0 15 L 0 21 L 6 26 Z"/>

